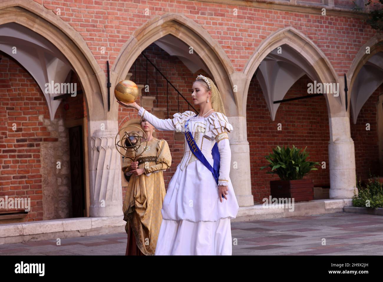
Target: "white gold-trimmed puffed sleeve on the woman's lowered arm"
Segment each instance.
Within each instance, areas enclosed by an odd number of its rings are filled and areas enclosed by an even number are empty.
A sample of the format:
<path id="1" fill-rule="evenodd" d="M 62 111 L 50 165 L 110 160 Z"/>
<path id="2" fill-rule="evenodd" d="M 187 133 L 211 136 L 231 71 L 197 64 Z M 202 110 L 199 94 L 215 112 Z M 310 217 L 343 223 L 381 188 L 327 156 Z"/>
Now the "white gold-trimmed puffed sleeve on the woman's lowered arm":
<path id="1" fill-rule="evenodd" d="M 233 131 L 227 116 L 223 113 L 215 112 L 208 116 L 209 131 L 207 136 L 214 138 L 217 142 L 220 161 L 218 185 L 229 185 L 229 174 L 231 164 L 231 149 L 229 145 L 228 133 Z"/>

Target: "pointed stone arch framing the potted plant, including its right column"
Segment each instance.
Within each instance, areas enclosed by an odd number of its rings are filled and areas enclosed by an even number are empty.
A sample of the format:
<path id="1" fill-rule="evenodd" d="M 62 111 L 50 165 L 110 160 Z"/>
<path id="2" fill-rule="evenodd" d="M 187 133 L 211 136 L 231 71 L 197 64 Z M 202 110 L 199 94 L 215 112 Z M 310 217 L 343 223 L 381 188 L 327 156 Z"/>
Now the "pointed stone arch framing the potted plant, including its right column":
<path id="1" fill-rule="evenodd" d="M 345 110 L 344 81 L 337 75 L 324 52 L 306 35 L 289 26 L 271 34 L 260 44 L 244 68 L 246 82 L 242 111 L 246 111 L 247 92 L 256 69 L 273 50 L 284 44 L 304 59 L 305 64 L 312 70 L 309 76 L 318 79 L 322 84 L 338 85 L 338 95 L 324 94 L 330 130 L 330 198 L 352 198 L 356 187 L 355 153 L 354 142 L 350 136 L 349 115 Z"/>

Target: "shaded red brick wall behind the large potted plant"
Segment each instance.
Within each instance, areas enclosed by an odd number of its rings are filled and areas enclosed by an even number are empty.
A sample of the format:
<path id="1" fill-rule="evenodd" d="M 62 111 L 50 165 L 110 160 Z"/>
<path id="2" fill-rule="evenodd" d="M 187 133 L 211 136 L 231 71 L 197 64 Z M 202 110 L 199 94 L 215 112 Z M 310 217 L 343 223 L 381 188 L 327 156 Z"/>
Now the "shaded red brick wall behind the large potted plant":
<path id="1" fill-rule="evenodd" d="M 307 94 L 307 84 L 312 82 L 307 75 L 301 77 L 288 90 L 283 99 L 300 97 Z M 282 131 L 277 130 L 278 123 Z M 300 149 L 306 146 L 308 161 L 325 161 L 327 169 L 311 171 L 304 179 L 313 179 L 314 187 L 329 186 L 328 141 L 329 121 L 324 96 L 280 103 L 273 121 L 267 108 L 264 94 L 258 80 L 253 77 L 247 96 L 247 139 L 250 145 L 251 184 L 254 202 L 262 203 L 262 198 L 270 195 L 270 180 L 279 180 L 277 174 L 266 174 L 270 169 L 265 156 L 277 146 L 293 145 Z"/>

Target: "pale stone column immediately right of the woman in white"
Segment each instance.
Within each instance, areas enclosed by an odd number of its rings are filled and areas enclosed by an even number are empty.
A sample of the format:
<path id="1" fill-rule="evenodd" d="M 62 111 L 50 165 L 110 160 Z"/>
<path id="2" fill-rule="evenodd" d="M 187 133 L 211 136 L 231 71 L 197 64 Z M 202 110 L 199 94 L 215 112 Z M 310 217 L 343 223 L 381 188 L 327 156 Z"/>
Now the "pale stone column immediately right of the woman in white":
<path id="1" fill-rule="evenodd" d="M 238 205 L 249 207 L 254 205 L 250 179 L 250 147 L 247 141 L 246 118 L 228 116 L 233 132 L 229 133 L 231 149 L 230 179 L 236 193 Z"/>

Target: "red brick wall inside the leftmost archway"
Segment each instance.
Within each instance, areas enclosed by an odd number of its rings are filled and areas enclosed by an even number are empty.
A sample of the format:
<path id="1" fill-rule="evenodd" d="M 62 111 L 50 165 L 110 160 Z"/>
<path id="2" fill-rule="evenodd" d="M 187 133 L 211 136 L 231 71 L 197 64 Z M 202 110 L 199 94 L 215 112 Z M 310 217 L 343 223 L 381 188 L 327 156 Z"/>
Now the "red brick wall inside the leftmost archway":
<path id="1" fill-rule="evenodd" d="M 49 175 L 42 163 L 52 160 L 43 159 L 41 146 L 46 145 L 44 152 L 49 158 L 58 157 L 56 149 L 63 147 L 67 139 L 67 136 L 60 136 L 64 130 L 59 129 L 63 108 L 60 105 L 51 122 L 43 92 L 31 75 L 11 57 L 4 53 L 0 57 L 0 197 L 30 198 L 31 211 L 26 221 L 51 219 L 57 216 L 52 210 L 47 211 L 49 218 L 43 217 L 43 194 L 46 193 L 43 182 L 57 186 L 56 178 L 52 178 L 56 174 L 56 158 L 54 167 L 50 168 L 54 172 Z M 14 125 L 16 130 L 13 130 Z M 65 161 L 62 167 L 65 167 Z M 62 176 L 68 177 L 67 173 Z M 61 187 L 67 185 L 61 184 Z M 68 202 L 68 198 L 65 200 Z M 48 205 L 54 205 L 52 198 L 46 200 L 46 208 Z"/>

